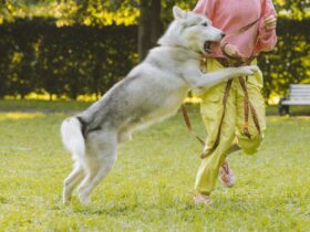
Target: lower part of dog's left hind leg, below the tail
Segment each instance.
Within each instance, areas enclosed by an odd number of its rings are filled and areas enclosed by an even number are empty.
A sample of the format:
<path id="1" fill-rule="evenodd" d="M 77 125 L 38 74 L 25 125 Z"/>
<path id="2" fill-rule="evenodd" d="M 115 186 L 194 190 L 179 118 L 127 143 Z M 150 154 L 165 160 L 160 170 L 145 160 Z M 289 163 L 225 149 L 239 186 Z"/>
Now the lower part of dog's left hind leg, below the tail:
<path id="1" fill-rule="evenodd" d="M 85 172 L 81 164 L 76 161 L 74 169 L 63 181 L 63 203 L 66 203 L 71 200 L 74 188 L 83 180 Z"/>

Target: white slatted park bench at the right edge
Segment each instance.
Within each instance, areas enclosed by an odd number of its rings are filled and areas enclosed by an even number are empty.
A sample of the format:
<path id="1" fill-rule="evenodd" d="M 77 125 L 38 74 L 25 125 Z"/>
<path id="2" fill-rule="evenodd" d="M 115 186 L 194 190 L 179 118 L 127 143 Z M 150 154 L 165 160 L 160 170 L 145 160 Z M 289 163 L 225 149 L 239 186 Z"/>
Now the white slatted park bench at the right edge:
<path id="1" fill-rule="evenodd" d="M 289 96 L 279 102 L 279 114 L 289 114 L 290 105 L 310 105 L 310 84 L 291 84 Z"/>

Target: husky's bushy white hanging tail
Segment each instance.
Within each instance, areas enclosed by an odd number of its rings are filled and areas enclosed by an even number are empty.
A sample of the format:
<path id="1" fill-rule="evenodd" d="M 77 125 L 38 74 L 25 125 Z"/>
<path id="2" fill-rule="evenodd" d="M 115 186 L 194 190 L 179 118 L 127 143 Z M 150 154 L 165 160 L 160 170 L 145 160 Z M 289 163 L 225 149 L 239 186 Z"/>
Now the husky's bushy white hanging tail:
<path id="1" fill-rule="evenodd" d="M 73 159 L 80 159 L 85 155 L 82 124 L 76 117 L 69 117 L 62 122 L 61 137 L 64 147 L 72 154 Z"/>

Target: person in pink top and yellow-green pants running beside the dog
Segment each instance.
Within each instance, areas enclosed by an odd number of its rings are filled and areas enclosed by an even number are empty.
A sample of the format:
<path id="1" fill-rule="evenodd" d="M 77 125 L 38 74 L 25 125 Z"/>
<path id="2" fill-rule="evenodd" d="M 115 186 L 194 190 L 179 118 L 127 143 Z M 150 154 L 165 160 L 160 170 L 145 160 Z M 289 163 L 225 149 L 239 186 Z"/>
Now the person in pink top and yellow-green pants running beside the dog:
<path id="1" fill-rule="evenodd" d="M 199 0 L 194 12 L 208 17 L 214 27 L 227 34 L 220 43 L 211 44 L 211 54 L 204 63 L 207 72 L 257 64 L 258 53 L 276 46 L 272 0 Z M 196 203 L 210 202 L 218 177 L 225 186 L 234 186 L 235 176 L 226 159 L 229 152 L 240 148 L 252 155 L 258 150 L 266 129 L 262 84 L 261 72 L 256 72 L 200 95 L 200 114 L 208 137 L 195 181 Z"/>

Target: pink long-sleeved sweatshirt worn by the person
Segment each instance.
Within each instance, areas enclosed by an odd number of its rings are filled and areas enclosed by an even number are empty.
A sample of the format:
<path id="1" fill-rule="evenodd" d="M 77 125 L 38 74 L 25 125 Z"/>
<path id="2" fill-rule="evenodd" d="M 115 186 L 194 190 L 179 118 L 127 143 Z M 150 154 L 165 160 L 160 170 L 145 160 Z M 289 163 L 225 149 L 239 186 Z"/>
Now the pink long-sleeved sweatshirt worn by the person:
<path id="1" fill-rule="evenodd" d="M 215 28 L 221 29 L 227 34 L 260 19 L 242 34 L 221 41 L 236 45 L 246 57 L 252 52 L 254 54 L 267 52 L 276 46 L 276 30 L 266 31 L 264 21 L 266 17 L 276 15 L 272 0 L 199 0 L 194 12 L 207 15 Z M 211 56 L 224 56 L 219 44 L 213 44 Z"/>

